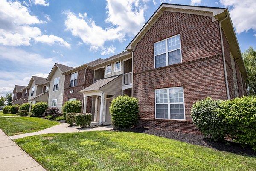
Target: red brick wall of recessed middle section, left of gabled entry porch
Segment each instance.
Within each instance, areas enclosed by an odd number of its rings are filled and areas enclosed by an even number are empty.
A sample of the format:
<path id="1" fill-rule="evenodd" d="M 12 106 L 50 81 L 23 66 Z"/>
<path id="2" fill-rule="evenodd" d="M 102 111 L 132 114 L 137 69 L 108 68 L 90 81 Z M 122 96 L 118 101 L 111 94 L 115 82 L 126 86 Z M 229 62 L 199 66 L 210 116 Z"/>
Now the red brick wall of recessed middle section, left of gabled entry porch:
<path id="1" fill-rule="evenodd" d="M 79 91 L 83 90 L 85 87 L 90 86 L 93 84 L 93 70 L 91 69 L 86 69 L 86 75 L 85 75 L 85 83 L 84 83 L 84 71 L 79 70 L 78 75 L 77 75 L 77 85 L 75 87 L 70 87 L 70 76 L 66 75 L 65 77 L 65 84 L 64 84 L 64 95 L 63 95 L 63 105 L 65 104 L 66 101 L 70 98 L 76 98 L 76 100 L 83 101 L 83 94 L 80 93 Z M 73 90 L 73 93 L 70 93 L 70 91 Z M 86 112 L 91 113 L 91 104 L 92 104 L 92 98 L 87 98 L 87 109 Z M 83 109 L 84 104 L 82 104 L 82 109 Z"/>

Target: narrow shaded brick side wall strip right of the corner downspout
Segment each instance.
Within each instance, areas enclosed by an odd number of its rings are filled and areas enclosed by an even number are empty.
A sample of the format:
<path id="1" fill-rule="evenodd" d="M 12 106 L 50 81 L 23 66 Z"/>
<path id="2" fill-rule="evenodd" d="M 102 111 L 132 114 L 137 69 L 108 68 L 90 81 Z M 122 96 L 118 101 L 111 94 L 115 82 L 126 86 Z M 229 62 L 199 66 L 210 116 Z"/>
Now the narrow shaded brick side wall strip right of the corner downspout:
<path id="1" fill-rule="evenodd" d="M 230 46 L 223 30 L 222 30 L 222 38 L 223 38 L 224 54 L 225 54 L 225 61 L 226 61 L 228 90 L 229 90 L 230 99 L 233 99 L 236 97 L 236 94 L 235 94 L 235 87 L 234 87 L 234 80 L 233 80 L 233 69 L 231 64 Z"/>

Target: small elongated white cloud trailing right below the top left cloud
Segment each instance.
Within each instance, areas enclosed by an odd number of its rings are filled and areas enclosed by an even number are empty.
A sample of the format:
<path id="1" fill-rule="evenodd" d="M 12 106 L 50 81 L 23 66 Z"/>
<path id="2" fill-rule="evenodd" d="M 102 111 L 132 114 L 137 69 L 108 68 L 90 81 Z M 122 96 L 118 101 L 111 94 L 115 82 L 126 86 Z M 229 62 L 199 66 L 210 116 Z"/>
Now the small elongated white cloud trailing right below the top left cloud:
<path id="1" fill-rule="evenodd" d="M 65 46 L 67 48 L 70 48 L 70 44 L 63 40 L 63 38 L 60 38 L 55 35 L 41 35 L 34 38 L 35 42 L 41 42 L 41 43 L 47 43 L 49 45 L 58 43 L 61 46 Z"/>

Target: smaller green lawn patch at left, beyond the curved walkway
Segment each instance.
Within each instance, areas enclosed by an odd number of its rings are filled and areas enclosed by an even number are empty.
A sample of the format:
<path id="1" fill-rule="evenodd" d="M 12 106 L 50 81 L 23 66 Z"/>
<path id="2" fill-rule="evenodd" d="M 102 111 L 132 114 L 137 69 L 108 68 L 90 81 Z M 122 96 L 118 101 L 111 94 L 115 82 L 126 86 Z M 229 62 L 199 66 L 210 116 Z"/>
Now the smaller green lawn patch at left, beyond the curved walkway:
<path id="1" fill-rule="evenodd" d="M 0 128 L 8 136 L 36 132 L 55 125 L 59 122 L 36 117 L 6 117 L 0 118 Z"/>

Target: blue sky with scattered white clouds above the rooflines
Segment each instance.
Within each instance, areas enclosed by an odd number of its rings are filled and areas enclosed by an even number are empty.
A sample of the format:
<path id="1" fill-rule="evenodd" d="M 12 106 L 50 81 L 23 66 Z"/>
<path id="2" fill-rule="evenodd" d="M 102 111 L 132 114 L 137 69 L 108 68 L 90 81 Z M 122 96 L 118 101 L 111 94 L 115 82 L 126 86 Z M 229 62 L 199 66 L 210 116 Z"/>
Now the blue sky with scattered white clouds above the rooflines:
<path id="1" fill-rule="evenodd" d="M 0 0 L 0 96 L 47 77 L 55 62 L 124 51 L 161 3 L 228 7 L 241 51 L 256 47 L 255 0 Z"/>

